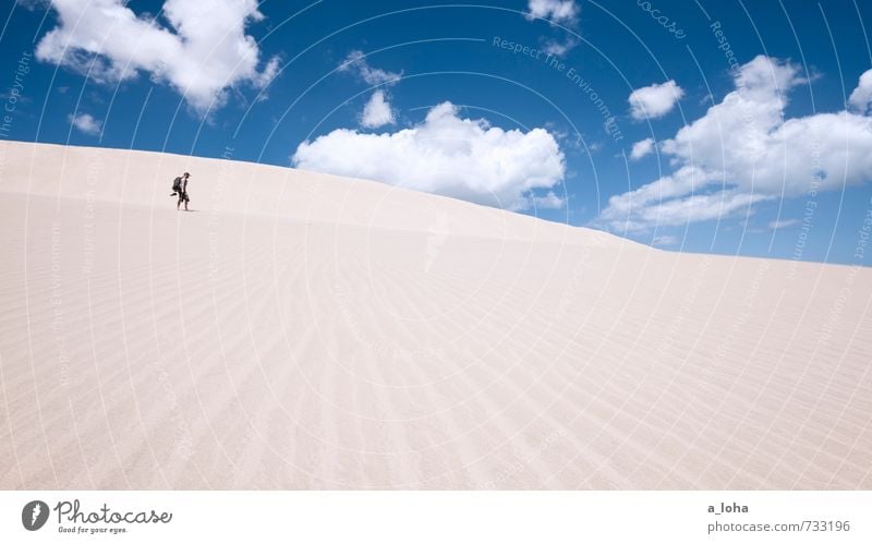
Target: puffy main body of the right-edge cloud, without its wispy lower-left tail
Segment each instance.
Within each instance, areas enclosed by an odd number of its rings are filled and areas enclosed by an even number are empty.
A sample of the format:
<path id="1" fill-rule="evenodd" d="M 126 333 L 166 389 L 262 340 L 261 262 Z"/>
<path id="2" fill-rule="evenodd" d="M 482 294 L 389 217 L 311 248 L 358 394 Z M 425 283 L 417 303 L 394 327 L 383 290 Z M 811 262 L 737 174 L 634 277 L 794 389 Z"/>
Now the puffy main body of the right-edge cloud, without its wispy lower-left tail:
<path id="1" fill-rule="evenodd" d="M 872 178 L 869 119 L 839 111 L 784 119 L 799 67 L 758 57 L 741 67 L 737 89 L 663 143 L 680 164 L 724 172 L 744 191 L 797 196 Z"/>

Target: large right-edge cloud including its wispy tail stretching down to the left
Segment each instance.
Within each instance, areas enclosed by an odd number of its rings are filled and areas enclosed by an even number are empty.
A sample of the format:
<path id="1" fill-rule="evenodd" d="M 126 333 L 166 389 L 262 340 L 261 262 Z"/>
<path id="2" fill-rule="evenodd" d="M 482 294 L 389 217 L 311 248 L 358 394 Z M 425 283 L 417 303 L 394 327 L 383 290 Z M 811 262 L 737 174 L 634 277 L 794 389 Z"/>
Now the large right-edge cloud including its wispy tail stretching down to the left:
<path id="1" fill-rule="evenodd" d="M 872 179 L 869 118 L 848 111 L 784 118 L 790 89 L 808 82 L 799 67 L 759 56 L 734 80 L 735 90 L 662 143 L 676 171 L 609 198 L 600 222 L 643 231 L 748 215 L 762 201 Z"/>

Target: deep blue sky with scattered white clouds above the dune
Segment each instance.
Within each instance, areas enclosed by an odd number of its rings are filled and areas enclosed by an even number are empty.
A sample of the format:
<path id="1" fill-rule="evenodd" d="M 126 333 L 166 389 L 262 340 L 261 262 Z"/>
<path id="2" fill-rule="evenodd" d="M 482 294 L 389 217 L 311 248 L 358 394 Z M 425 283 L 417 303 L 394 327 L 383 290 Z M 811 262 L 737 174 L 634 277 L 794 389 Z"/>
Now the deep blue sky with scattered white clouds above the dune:
<path id="1" fill-rule="evenodd" d="M 229 147 L 676 251 L 872 258 L 868 2 L 68 4 L 0 13 L 1 137 Z"/>

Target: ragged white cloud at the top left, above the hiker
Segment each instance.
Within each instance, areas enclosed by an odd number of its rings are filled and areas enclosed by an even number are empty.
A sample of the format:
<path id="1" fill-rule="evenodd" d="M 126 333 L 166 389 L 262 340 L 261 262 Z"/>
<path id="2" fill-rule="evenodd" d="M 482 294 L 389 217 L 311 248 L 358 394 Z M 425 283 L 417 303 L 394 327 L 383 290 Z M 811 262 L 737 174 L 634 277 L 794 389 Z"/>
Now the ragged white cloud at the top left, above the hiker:
<path id="1" fill-rule="evenodd" d="M 37 45 L 38 59 L 100 83 L 147 72 L 201 114 L 222 106 L 228 87 L 264 87 L 278 71 L 277 58 L 257 70 L 258 47 L 245 34 L 250 22 L 264 17 L 256 0 L 167 0 L 161 13 L 169 28 L 137 15 L 122 0 L 52 0 L 51 5 L 59 24 Z"/>

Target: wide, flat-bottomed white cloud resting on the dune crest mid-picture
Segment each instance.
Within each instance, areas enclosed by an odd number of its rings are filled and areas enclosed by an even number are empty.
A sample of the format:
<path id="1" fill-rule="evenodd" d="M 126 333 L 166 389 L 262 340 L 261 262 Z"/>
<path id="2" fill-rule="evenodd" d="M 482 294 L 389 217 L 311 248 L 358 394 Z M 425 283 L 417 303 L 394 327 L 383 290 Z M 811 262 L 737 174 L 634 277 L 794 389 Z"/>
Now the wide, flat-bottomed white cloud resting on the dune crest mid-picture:
<path id="1" fill-rule="evenodd" d="M 557 141 L 545 129 L 491 126 L 483 119 L 461 118 L 451 102 L 433 107 L 422 123 L 393 133 L 335 130 L 300 144 L 291 160 L 305 170 L 509 209 L 532 207 L 533 193 L 557 185 L 566 168 Z"/>

